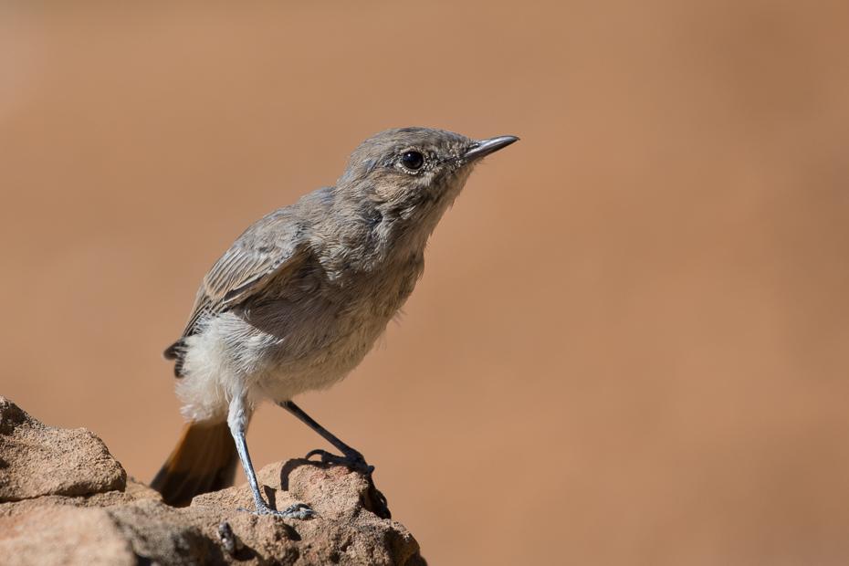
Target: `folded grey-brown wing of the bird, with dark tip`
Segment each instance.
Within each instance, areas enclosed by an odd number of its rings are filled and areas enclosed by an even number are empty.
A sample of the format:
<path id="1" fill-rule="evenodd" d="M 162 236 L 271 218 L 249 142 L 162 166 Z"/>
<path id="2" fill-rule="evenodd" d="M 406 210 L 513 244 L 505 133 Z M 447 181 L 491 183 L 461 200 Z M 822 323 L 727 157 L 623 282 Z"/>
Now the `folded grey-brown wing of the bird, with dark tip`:
<path id="1" fill-rule="evenodd" d="M 204 277 L 183 336 L 162 354 L 166 360 L 177 361 L 174 373 L 178 377 L 183 340 L 194 334 L 198 322 L 243 302 L 263 288 L 272 274 L 294 267 L 305 244 L 303 226 L 288 208 L 265 216 L 239 236 Z"/>

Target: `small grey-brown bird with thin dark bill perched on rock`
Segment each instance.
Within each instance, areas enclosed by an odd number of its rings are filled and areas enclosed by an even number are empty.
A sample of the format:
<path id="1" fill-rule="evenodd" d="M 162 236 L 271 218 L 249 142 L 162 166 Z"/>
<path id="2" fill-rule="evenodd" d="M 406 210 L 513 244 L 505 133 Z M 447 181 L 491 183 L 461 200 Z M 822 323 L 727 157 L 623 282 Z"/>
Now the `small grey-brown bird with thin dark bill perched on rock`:
<path id="1" fill-rule="evenodd" d="M 236 454 L 257 514 L 303 519 L 262 498 L 245 432 L 263 401 L 279 404 L 341 451 L 307 455 L 371 474 L 351 446 L 292 403 L 339 382 L 413 292 L 425 244 L 475 164 L 518 141 L 450 131 L 387 130 L 353 152 L 336 186 L 261 218 L 206 274 L 180 340 L 165 352 L 181 378 L 188 425 L 152 487 L 166 503 L 232 483 Z"/>

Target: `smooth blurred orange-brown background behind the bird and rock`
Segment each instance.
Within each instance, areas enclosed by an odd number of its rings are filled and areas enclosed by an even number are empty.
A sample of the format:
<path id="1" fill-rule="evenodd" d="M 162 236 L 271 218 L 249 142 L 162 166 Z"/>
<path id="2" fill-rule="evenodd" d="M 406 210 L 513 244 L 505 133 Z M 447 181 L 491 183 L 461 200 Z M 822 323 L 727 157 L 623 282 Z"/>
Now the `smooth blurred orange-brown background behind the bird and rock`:
<path id="1" fill-rule="evenodd" d="M 298 403 L 432 564 L 849 561 L 849 4 L 0 4 L 0 394 L 149 481 L 206 270 L 364 138 L 521 142 Z M 326 447 L 267 405 L 257 466 Z M 239 478 L 243 481 L 243 477 Z"/>

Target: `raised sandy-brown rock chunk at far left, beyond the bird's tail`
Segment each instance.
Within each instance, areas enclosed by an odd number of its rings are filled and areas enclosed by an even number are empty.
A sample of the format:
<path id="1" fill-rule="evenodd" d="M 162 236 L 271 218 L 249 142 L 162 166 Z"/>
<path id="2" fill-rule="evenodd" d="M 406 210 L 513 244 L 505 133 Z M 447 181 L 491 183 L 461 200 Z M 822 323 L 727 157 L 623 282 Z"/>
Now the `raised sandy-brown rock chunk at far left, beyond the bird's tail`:
<path id="1" fill-rule="evenodd" d="M 42 425 L 0 397 L 0 502 L 123 491 L 126 483 L 97 435 Z"/>

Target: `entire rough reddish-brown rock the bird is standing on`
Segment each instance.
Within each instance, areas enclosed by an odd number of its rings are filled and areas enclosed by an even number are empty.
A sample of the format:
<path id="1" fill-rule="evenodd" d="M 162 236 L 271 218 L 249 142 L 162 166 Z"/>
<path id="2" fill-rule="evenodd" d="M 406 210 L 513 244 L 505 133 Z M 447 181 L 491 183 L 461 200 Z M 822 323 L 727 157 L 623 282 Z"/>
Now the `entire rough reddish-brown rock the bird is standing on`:
<path id="1" fill-rule="evenodd" d="M 246 486 L 162 503 L 88 431 L 50 428 L 0 397 L 0 564 L 424 565 L 418 543 L 383 519 L 370 477 L 289 460 L 258 476 L 272 507 L 319 518 L 257 517 Z M 376 514 L 377 513 L 377 514 Z"/>

